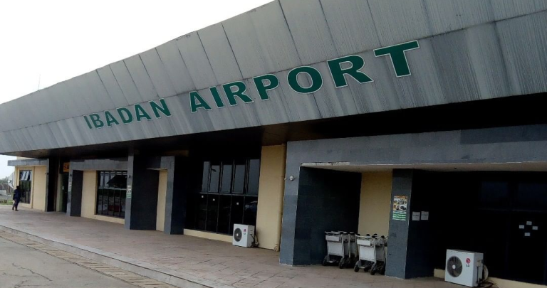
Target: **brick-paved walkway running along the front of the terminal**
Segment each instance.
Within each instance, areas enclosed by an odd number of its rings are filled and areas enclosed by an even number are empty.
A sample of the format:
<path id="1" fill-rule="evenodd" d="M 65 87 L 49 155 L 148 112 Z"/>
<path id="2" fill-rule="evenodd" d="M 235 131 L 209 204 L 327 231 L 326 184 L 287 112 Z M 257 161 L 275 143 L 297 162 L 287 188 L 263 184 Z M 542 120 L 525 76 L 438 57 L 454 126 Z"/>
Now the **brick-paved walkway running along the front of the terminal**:
<path id="1" fill-rule="evenodd" d="M 63 213 L 24 208 L 16 213 L 11 206 L 0 206 L 0 230 L 9 229 L 27 233 L 29 238 L 54 241 L 136 265 L 147 277 L 154 278 L 152 272 L 160 273 L 157 277 L 163 282 L 176 284 L 174 278 L 186 279 L 194 283 L 192 287 L 459 287 L 433 278 L 400 280 L 338 267 L 289 267 L 280 265 L 278 252 L 271 250 L 234 247 L 231 243 L 158 231 L 125 230 L 120 224 L 68 217 Z"/>

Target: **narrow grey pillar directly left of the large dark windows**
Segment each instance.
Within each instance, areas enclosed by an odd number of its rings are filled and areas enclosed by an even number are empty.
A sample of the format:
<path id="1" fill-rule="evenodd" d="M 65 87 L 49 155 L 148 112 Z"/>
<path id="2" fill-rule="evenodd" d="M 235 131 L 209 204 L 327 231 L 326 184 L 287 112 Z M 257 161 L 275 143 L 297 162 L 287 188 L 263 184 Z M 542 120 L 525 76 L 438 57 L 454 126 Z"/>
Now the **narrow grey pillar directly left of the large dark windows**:
<path id="1" fill-rule="evenodd" d="M 162 157 L 162 167 L 167 166 L 167 193 L 165 195 L 165 234 L 184 234 L 188 177 L 185 157 Z"/>

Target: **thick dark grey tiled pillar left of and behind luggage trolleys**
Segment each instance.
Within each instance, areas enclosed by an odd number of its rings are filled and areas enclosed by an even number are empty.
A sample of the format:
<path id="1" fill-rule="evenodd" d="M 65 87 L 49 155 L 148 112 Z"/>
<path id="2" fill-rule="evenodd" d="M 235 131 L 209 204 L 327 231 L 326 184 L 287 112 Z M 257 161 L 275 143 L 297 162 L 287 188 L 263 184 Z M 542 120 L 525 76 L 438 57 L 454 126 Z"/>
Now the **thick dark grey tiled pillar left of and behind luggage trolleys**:
<path id="1" fill-rule="evenodd" d="M 283 205 L 280 261 L 316 265 L 327 254 L 325 231 L 357 232 L 361 174 L 301 168 L 297 195 Z"/>

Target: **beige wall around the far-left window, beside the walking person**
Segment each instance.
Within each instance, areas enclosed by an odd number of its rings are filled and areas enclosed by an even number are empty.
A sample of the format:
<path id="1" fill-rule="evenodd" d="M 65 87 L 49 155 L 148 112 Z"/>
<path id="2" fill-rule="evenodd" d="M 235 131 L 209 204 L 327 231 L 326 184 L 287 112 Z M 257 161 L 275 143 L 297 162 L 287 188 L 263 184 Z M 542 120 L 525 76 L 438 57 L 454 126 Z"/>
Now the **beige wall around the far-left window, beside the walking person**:
<path id="1" fill-rule="evenodd" d="M 19 203 L 19 207 L 46 210 L 46 166 L 17 166 L 15 167 L 15 183 L 19 185 L 19 171 L 32 171 L 31 203 Z"/>

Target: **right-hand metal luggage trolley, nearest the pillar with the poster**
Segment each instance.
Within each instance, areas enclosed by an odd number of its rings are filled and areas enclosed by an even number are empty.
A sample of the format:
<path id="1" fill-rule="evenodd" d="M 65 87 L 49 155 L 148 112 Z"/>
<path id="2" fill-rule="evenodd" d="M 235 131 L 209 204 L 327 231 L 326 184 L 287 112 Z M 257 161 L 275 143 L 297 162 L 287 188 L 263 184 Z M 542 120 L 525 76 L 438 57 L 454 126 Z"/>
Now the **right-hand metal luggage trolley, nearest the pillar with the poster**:
<path id="1" fill-rule="evenodd" d="M 385 259 L 387 252 L 387 239 L 385 236 L 377 237 L 377 235 L 357 236 L 357 245 L 359 247 L 359 260 L 355 262 L 353 271 L 359 272 L 370 271 L 371 275 L 380 272 L 385 274 Z"/>

